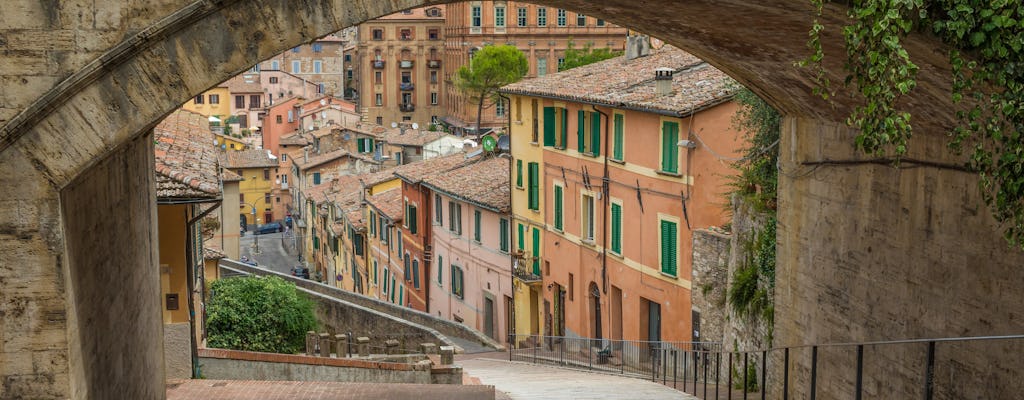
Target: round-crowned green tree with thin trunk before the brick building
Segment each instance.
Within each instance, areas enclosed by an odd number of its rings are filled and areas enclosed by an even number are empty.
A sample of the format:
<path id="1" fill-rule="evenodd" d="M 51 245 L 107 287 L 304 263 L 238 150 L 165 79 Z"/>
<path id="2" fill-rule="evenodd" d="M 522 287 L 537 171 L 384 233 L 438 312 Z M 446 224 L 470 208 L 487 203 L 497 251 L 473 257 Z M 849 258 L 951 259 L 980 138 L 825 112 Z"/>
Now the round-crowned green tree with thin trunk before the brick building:
<path id="1" fill-rule="evenodd" d="M 483 102 L 501 101 L 498 89 L 518 82 L 529 71 L 526 56 L 515 46 L 484 46 L 477 51 L 469 65 L 460 66 L 455 73 L 455 86 L 476 101 L 476 134 L 480 134 L 480 117 Z"/>

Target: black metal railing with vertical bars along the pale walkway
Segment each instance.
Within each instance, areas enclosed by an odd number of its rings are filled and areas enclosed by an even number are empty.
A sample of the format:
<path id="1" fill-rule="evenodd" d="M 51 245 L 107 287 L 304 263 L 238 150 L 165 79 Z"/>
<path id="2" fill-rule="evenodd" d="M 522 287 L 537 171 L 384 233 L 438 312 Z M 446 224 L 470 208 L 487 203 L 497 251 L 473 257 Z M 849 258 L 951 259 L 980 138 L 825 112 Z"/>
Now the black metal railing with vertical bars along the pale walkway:
<path id="1" fill-rule="evenodd" d="M 726 351 L 716 343 L 519 335 L 510 336 L 509 360 L 649 379 L 700 399 L 815 400 L 841 394 L 860 400 L 865 392 L 887 399 L 1001 399 L 1020 396 L 1024 335 L 757 351 Z"/>

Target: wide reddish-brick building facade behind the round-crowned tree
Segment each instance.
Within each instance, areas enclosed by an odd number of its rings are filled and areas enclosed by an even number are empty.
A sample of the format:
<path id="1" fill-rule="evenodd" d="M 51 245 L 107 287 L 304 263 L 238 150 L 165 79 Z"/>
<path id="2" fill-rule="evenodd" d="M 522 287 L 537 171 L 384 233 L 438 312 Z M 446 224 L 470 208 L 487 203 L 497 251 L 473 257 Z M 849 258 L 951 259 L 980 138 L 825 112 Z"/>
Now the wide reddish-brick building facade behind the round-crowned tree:
<path id="1" fill-rule="evenodd" d="M 577 48 L 624 50 L 627 30 L 584 14 L 560 8 L 517 1 L 468 1 L 447 6 L 444 21 L 445 124 L 453 132 L 475 129 L 477 104 L 469 101 L 454 85 L 452 76 L 469 64 L 472 54 L 483 46 L 509 44 L 526 56 L 525 78 L 558 72 L 571 41 Z M 501 128 L 508 121 L 508 104 L 494 104 L 483 110 L 481 128 Z M 513 118 L 513 121 L 518 121 Z"/>

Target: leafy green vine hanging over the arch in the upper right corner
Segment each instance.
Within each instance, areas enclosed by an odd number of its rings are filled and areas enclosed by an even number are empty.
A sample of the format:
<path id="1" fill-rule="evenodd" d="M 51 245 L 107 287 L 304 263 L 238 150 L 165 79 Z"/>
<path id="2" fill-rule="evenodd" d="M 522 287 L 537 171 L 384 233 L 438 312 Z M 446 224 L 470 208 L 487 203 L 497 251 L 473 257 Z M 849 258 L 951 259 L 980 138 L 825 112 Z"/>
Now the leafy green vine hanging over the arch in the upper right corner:
<path id="1" fill-rule="evenodd" d="M 811 0 L 820 16 L 824 0 Z M 1024 248 L 1024 2 L 1020 0 L 860 0 L 843 29 L 847 52 L 846 84 L 863 97 L 847 123 L 860 130 L 857 148 L 882 155 L 906 153 L 911 116 L 900 110 L 901 96 L 916 84 L 918 66 L 901 40 L 915 31 L 931 32 L 949 44 L 954 103 L 959 124 L 950 135 L 955 153 L 969 152 L 968 166 L 980 176 L 982 198 L 1001 223 L 1006 238 Z M 815 19 L 799 62 L 815 69 L 816 93 L 825 99 L 831 83 L 821 60 Z"/>

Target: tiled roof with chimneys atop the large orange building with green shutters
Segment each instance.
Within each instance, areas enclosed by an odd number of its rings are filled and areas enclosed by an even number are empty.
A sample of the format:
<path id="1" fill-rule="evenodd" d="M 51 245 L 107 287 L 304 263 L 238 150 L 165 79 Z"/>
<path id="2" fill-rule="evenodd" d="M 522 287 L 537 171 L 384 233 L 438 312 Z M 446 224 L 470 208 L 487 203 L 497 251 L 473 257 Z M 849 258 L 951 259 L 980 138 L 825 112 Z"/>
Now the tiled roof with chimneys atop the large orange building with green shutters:
<path id="1" fill-rule="evenodd" d="M 675 71 L 672 93 L 654 92 L 654 71 Z M 620 56 L 505 86 L 503 93 L 685 116 L 728 100 L 733 80 L 700 58 L 672 46 L 634 59 Z"/>

